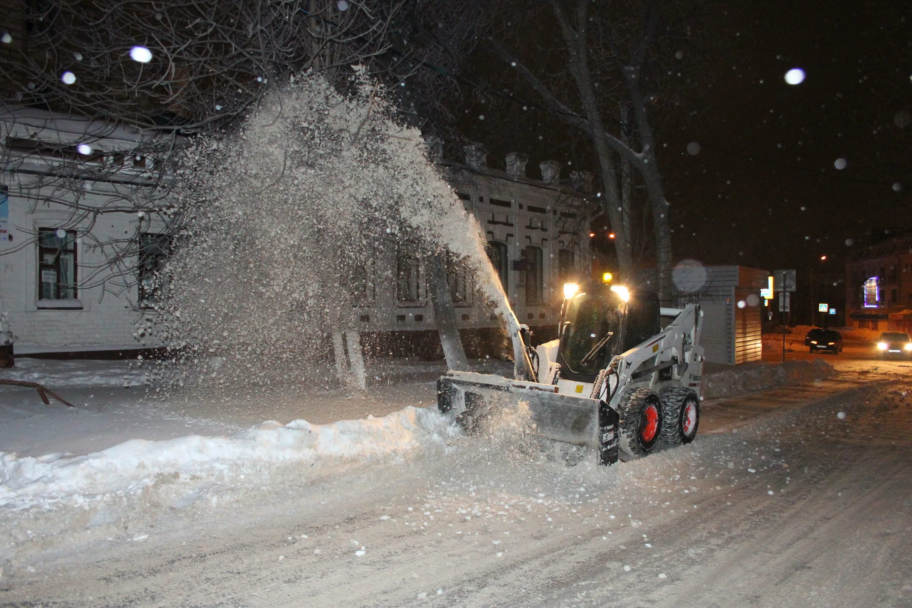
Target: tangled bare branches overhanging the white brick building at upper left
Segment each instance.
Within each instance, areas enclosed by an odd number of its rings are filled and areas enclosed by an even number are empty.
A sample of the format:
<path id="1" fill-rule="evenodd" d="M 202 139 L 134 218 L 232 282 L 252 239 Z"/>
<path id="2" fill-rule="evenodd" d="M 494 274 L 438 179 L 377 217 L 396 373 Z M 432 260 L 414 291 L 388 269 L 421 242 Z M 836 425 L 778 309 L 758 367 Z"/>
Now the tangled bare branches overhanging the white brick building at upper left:
<path id="1" fill-rule="evenodd" d="M 68 210 L 65 224 L 103 252 L 80 287 L 122 293 L 139 279 L 141 233 L 175 236 L 183 224 L 168 194 L 188 138 L 233 129 L 271 84 L 307 70 L 346 86 L 351 70 L 338 68 L 389 50 L 403 1 L 0 5 L 0 161 L 20 176 L 18 194 Z M 137 233 L 96 229 L 116 214 L 138 215 Z M 18 235 L 4 253 L 36 236 Z"/>

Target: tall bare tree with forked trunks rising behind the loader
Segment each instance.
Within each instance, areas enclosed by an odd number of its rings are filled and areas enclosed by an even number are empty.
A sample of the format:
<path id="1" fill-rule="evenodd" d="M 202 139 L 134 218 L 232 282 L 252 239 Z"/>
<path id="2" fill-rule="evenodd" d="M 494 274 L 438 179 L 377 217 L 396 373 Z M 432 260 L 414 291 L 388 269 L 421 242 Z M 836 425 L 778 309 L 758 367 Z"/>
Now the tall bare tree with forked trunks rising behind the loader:
<path id="1" fill-rule="evenodd" d="M 604 186 L 605 212 L 616 226 L 618 265 L 627 275 L 634 270 L 633 210 L 619 185 L 618 159 L 641 176 L 648 193 L 658 288 L 665 299 L 672 255 L 669 204 L 648 110 L 658 97 L 660 83 L 646 76 L 650 70 L 658 71 L 653 64 L 660 64 L 667 54 L 667 41 L 662 40 L 666 15 L 658 0 L 598 6 L 586 0 L 548 0 L 546 6 L 560 32 L 560 44 L 554 46 L 555 52 L 562 53 L 558 66 L 553 58 L 534 65 L 530 60 L 535 61 L 535 56 L 523 58 L 508 49 L 502 37 L 489 38 L 492 48 L 545 107 L 591 140 Z M 541 13 L 538 18 L 543 18 Z"/>

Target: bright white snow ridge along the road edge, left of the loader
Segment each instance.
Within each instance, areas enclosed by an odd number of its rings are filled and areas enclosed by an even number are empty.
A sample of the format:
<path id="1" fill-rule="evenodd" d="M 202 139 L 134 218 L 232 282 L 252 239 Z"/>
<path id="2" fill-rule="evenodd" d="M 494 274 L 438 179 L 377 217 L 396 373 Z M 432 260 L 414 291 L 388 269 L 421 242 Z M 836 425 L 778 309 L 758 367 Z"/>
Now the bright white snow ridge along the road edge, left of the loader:
<path id="1" fill-rule="evenodd" d="M 19 458 L 0 452 L 0 506 L 76 505 L 101 495 L 135 495 L 161 483 L 225 486 L 264 477 L 264 467 L 300 465 L 307 475 L 340 460 L 400 456 L 440 447 L 457 427 L 436 409 L 407 407 L 383 418 L 311 425 L 266 422 L 230 437 L 191 435 L 166 441 L 131 439 L 87 456 Z"/>

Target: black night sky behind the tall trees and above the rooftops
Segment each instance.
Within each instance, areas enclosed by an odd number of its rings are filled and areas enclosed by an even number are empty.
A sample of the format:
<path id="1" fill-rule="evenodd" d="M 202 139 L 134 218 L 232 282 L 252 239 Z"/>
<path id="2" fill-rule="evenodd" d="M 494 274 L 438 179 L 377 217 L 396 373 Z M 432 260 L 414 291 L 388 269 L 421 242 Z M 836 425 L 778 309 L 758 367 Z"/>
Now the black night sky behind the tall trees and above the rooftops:
<path id="1" fill-rule="evenodd" d="M 912 111 L 910 4 L 712 6 L 710 44 L 682 62 L 696 85 L 654 117 L 676 259 L 841 272 L 846 239 L 912 228 L 912 125 L 895 123 Z M 784 81 L 790 68 L 803 68 L 803 83 Z M 545 155 L 579 167 L 566 125 L 549 126 L 537 110 L 541 123 L 503 131 L 493 105 L 462 111 L 464 131 L 488 145 L 494 166 L 509 148 L 530 153 L 530 175 Z M 489 120 L 478 120 L 485 112 Z M 700 152 L 689 154 L 689 142 Z"/>

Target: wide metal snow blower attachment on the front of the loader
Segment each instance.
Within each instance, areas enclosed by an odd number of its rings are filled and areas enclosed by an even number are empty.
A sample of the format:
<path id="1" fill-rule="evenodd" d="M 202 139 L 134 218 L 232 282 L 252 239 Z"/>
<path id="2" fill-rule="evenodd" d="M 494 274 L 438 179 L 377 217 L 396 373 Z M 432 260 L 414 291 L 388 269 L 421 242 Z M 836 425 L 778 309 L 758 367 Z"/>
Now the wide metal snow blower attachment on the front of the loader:
<path id="1" fill-rule="evenodd" d="M 551 384 L 474 372 L 446 372 L 437 381 L 437 406 L 467 432 L 502 408 L 528 404 L 535 432 L 597 450 L 598 464 L 617 462 L 617 412 L 604 401 L 557 393 Z"/>

